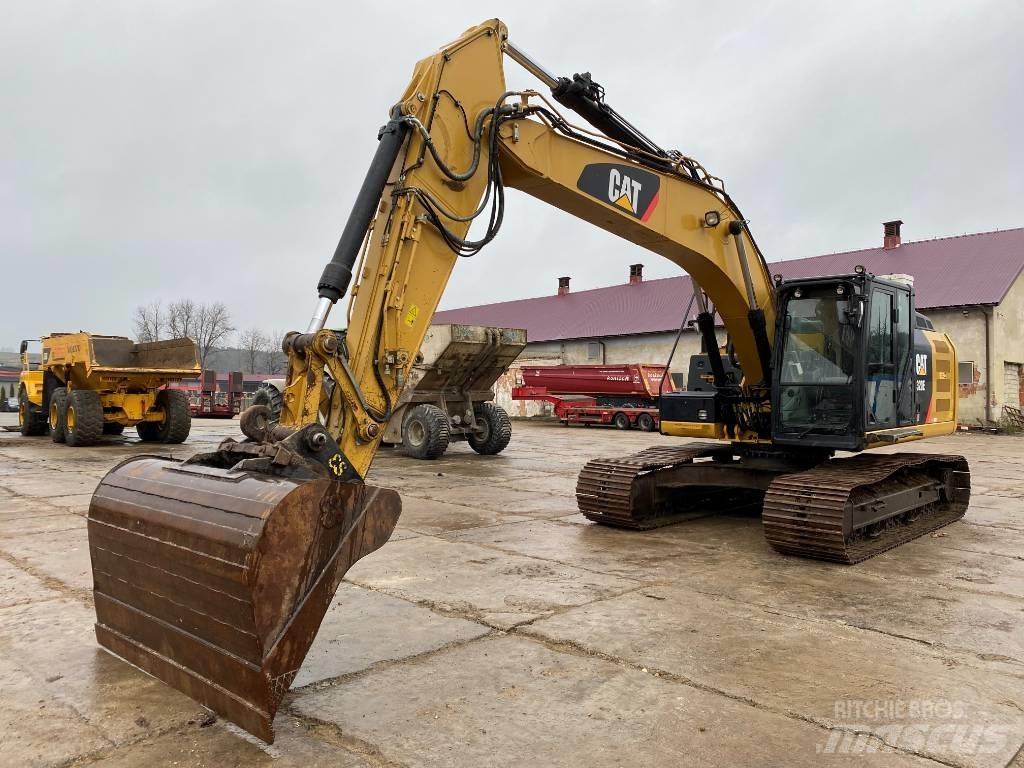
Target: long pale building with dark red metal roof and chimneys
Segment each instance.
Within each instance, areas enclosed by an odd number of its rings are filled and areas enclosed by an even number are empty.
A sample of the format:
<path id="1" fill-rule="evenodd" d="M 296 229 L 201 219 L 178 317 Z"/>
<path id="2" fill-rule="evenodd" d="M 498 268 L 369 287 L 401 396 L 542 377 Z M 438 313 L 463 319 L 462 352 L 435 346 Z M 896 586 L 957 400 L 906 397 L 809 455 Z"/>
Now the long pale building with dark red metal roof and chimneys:
<path id="1" fill-rule="evenodd" d="M 910 274 L 919 310 L 955 343 L 961 358 L 961 418 L 999 418 L 1024 399 L 1024 228 L 902 243 L 900 221 L 886 223 L 883 246 L 770 264 L 784 278 L 852 272 Z M 525 328 L 523 359 L 563 362 L 664 362 L 690 303 L 687 275 L 645 281 L 642 265 L 617 286 L 449 309 L 435 324 Z M 674 368 L 696 351 L 684 334 Z"/>

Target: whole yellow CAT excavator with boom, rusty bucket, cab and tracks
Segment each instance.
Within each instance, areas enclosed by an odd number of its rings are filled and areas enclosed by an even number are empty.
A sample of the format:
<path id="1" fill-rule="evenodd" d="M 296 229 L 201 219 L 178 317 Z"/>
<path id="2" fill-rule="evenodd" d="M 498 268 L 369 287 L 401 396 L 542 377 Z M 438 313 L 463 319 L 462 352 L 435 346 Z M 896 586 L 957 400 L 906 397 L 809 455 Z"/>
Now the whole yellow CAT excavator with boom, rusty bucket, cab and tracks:
<path id="1" fill-rule="evenodd" d="M 508 90 L 505 56 L 550 96 Z M 721 180 L 632 126 L 589 74 L 551 75 L 485 22 L 417 65 L 378 138 L 312 319 L 283 342 L 280 420 L 253 407 L 245 439 L 130 459 L 97 487 L 96 635 L 115 654 L 273 738 L 342 577 L 398 520 L 397 494 L 364 478 L 449 275 L 498 234 L 509 186 L 698 286 L 713 384 L 665 395 L 662 432 L 706 439 L 591 462 L 588 517 L 643 528 L 754 498 L 775 549 L 854 562 L 965 513 L 963 458 L 860 453 L 955 425 L 955 351 L 908 282 L 773 278 Z M 329 330 L 346 295 L 344 330 Z"/>

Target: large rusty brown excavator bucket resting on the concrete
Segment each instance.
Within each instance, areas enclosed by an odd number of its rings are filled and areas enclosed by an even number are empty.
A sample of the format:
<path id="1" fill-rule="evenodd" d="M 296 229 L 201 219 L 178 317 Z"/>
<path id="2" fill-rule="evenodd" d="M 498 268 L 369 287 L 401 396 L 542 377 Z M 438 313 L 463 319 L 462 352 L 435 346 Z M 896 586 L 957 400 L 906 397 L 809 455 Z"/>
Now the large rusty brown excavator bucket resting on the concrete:
<path id="1" fill-rule="evenodd" d="M 96 638 L 267 742 L 345 571 L 393 490 L 136 457 L 89 507 Z"/>

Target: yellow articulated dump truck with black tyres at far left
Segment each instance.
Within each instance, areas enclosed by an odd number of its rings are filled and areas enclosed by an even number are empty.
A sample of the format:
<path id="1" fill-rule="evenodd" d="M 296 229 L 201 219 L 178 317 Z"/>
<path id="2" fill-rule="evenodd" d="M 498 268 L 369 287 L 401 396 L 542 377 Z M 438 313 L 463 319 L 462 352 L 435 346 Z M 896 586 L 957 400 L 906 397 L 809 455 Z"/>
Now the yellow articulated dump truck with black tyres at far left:
<path id="1" fill-rule="evenodd" d="M 124 336 L 51 334 L 40 362 L 22 342 L 18 424 L 24 435 L 49 432 L 54 442 L 90 445 L 135 427 L 146 442 L 184 442 L 191 427 L 188 397 L 162 389 L 200 375 L 191 339 L 135 343 Z"/>

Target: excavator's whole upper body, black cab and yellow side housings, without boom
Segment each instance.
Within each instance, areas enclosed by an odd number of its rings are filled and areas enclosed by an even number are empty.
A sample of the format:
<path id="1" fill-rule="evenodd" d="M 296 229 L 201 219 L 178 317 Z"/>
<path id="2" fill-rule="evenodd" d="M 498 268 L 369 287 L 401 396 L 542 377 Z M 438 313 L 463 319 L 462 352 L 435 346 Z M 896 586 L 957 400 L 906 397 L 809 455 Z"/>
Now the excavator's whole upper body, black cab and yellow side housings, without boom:
<path id="1" fill-rule="evenodd" d="M 742 360 L 706 352 L 697 359 L 707 369 L 695 379 L 699 386 L 662 396 L 663 431 L 740 440 L 754 432 L 776 445 L 827 455 L 921 437 L 927 424 L 954 420 L 955 353 L 914 311 L 908 279 L 858 267 L 852 274 L 778 281 L 776 294 L 770 422 L 742 419 L 743 407 L 751 410 L 737 386 Z M 714 338 L 707 341 L 717 347 Z"/>

